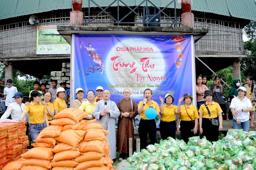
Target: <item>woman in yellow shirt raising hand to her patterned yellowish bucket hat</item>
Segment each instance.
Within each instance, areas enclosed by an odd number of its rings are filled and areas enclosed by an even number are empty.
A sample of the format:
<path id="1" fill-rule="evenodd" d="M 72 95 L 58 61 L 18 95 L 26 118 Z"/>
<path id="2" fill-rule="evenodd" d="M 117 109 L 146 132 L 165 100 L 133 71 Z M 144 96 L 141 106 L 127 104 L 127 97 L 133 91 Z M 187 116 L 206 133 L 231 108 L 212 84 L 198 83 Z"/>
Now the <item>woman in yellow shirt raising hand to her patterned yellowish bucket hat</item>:
<path id="1" fill-rule="evenodd" d="M 184 105 L 181 105 L 181 101 L 185 101 Z M 177 132 L 180 132 L 179 123 L 181 120 L 181 139 L 188 143 L 189 138 L 197 134 L 198 125 L 198 112 L 194 105 L 191 104 L 193 97 L 191 94 L 186 93 L 179 100 L 177 115 Z"/>

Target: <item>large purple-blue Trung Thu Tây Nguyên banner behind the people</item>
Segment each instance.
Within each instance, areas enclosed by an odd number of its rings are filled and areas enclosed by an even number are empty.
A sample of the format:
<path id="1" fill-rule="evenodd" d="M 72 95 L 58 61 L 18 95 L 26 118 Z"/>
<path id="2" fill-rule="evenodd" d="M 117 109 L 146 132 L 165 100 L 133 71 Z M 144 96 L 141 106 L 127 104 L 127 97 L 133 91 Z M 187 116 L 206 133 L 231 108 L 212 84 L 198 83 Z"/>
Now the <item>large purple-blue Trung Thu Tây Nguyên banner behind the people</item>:
<path id="1" fill-rule="evenodd" d="M 146 88 L 152 99 L 174 95 L 174 105 L 185 93 L 194 98 L 192 36 L 73 35 L 73 89 L 86 92 L 97 86 L 110 90 L 110 99 L 123 99 L 129 88 L 137 103 Z M 74 91 L 73 90 L 73 91 Z M 96 93 L 95 93 L 96 95 Z M 74 94 L 74 98 L 75 94 Z"/>

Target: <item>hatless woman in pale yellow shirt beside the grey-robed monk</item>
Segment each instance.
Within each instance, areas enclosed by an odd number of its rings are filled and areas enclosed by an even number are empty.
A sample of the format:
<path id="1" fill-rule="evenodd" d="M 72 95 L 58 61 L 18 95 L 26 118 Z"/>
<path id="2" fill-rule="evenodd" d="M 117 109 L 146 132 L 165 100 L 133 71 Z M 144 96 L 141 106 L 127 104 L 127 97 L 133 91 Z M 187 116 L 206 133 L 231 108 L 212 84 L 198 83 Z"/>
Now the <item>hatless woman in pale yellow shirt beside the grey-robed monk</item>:
<path id="1" fill-rule="evenodd" d="M 88 114 L 89 119 L 94 119 L 94 117 L 92 116 L 92 112 L 97 104 L 97 102 L 94 101 L 94 97 L 95 97 L 94 91 L 92 90 L 87 91 L 88 100 L 83 102 L 82 105 L 79 107 L 80 110 Z"/>

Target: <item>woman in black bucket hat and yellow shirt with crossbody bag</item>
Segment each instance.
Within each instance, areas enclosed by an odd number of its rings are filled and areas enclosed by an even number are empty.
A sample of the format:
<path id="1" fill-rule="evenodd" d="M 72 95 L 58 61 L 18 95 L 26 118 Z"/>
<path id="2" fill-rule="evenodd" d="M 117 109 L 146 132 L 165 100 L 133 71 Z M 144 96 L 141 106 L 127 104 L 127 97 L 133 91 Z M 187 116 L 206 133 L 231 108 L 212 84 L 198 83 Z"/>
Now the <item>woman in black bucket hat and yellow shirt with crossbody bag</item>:
<path id="1" fill-rule="evenodd" d="M 222 110 L 219 104 L 212 100 L 213 96 L 211 90 L 206 90 L 203 96 L 206 103 L 202 104 L 198 110 L 199 132 L 211 142 L 218 141 L 219 131 L 223 129 Z"/>

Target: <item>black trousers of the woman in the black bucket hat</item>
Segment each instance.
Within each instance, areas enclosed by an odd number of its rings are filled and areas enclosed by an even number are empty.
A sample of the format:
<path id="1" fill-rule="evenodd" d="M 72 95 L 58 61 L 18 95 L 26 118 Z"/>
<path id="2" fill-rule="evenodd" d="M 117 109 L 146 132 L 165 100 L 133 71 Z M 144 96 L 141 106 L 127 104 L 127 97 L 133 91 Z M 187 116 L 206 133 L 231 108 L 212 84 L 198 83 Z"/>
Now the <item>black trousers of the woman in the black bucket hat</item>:
<path id="1" fill-rule="evenodd" d="M 205 136 L 208 141 L 218 141 L 219 126 L 212 125 L 211 119 L 202 118 L 202 129 L 202 135 Z"/>

